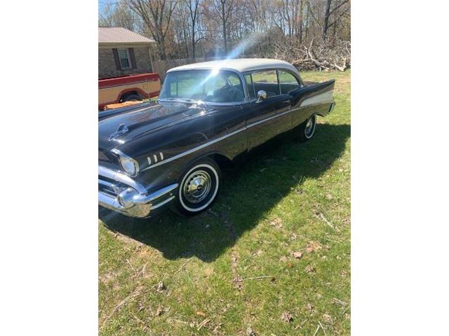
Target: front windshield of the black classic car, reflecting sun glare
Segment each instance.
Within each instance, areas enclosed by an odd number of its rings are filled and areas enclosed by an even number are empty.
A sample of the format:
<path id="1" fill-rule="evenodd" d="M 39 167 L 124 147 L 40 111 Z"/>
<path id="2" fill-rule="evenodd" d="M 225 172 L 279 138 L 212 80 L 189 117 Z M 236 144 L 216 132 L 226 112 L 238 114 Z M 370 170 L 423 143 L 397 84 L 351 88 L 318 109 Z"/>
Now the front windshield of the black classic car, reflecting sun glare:
<path id="1" fill-rule="evenodd" d="M 167 73 L 159 99 L 232 103 L 242 102 L 245 94 L 240 77 L 233 71 L 185 70 Z"/>

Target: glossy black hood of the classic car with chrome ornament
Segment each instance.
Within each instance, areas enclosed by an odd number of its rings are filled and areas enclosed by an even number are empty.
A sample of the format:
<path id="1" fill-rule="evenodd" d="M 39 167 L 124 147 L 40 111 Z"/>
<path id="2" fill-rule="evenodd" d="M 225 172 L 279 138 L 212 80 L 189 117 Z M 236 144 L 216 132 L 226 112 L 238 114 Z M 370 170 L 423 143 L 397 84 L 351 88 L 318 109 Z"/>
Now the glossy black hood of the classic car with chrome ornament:
<path id="1" fill-rule="evenodd" d="M 118 114 L 101 119 L 98 122 L 98 148 L 110 151 L 128 141 L 206 112 L 206 106 L 202 104 L 158 102 L 143 105 L 138 109 L 135 106 L 121 109 Z"/>

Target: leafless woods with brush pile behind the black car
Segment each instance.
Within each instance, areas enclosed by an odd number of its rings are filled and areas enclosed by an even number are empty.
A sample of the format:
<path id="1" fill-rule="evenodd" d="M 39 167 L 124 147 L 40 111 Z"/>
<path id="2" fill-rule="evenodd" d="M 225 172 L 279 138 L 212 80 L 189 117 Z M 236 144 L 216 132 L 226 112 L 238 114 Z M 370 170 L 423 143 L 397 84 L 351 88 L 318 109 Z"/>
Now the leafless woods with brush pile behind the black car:
<path id="1" fill-rule="evenodd" d="M 303 69 L 351 64 L 349 0 L 117 1 L 103 7 L 99 25 L 152 37 L 159 59 L 229 56 L 239 45 L 243 55 L 286 59 Z"/>

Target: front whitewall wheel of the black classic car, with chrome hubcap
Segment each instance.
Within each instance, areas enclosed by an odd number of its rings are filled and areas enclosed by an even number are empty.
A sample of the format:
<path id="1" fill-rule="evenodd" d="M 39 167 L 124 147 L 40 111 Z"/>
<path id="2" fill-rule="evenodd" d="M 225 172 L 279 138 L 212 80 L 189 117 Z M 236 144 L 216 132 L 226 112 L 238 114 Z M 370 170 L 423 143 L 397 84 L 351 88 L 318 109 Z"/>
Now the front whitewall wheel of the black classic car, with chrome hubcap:
<path id="1" fill-rule="evenodd" d="M 175 210 L 186 216 L 205 211 L 215 201 L 220 188 L 220 168 L 208 158 L 186 169 L 180 178 Z"/>

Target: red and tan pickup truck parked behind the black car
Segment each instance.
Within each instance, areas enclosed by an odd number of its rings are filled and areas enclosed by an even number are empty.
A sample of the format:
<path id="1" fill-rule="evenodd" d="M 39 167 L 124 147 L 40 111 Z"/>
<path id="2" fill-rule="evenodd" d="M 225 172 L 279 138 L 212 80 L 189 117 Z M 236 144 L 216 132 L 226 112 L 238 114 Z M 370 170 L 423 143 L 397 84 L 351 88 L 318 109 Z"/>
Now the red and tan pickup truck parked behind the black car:
<path id="1" fill-rule="evenodd" d="M 98 80 L 98 110 L 108 104 L 142 100 L 159 95 L 161 78 L 157 73 L 106 78 Z"/>

